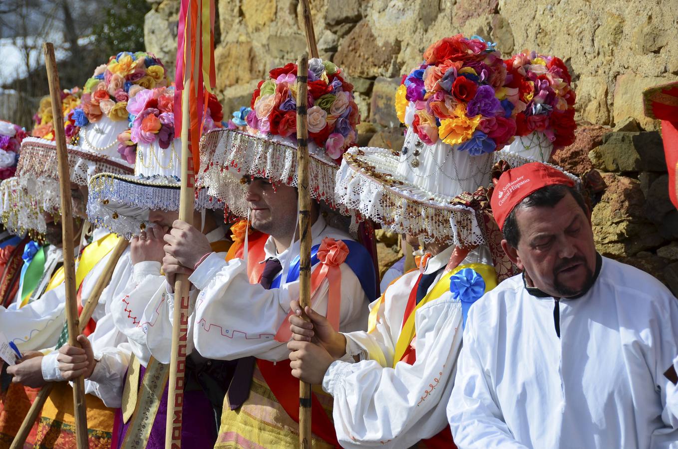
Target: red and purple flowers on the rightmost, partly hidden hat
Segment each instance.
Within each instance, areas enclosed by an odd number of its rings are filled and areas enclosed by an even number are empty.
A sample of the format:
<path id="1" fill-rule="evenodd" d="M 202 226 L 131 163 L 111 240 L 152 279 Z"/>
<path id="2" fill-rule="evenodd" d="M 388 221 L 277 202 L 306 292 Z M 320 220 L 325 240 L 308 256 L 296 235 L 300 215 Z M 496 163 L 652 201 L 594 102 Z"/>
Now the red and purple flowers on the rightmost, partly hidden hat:
<path id="1" fill-rule="evenodd" d="M 574 142 L 575 94 L 567 66 L 555 56 L 523 51 L 505 61 L 506 95 L 517 100 L 516 135 L 541 131 L 554 150 Z"/>

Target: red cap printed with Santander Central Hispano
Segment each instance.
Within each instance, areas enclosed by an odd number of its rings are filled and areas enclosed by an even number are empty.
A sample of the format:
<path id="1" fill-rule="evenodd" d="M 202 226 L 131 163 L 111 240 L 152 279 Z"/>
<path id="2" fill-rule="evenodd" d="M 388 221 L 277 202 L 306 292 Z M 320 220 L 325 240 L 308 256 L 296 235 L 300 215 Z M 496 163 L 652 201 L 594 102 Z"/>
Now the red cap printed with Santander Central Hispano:
<path id="1" fill-rule="evenodd" d="M 574 181 L 565 173 L 540 162 L 532 162 L 504 171 L 494 186 L 494 192 L 490 198 L 492 213 L 494 213 L 499 229 L 504 230 L 506 217 L 523 199 L 542 187 L 554 184 L 574 187 Z"/>

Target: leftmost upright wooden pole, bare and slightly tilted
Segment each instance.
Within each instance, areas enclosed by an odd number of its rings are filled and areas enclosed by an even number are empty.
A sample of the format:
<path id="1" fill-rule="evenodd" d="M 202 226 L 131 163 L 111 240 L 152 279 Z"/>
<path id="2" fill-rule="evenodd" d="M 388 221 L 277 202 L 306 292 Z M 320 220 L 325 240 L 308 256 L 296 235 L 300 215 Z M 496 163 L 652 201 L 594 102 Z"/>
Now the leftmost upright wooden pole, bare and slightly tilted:
<path id="1" fill-rule="evenodd" d="M 66 153 L 66 135 L 64 134 L 64 116 L 61 109 L 61 88 L 56 70 L 54 45 L 43 44 L 49 96 L 52 98 L 52 116 L 54 116 L 54 135 L 56 136 L 56 154 L 59 165 L 59 187 L 61 194 L 61 228 L 64 250 L 64 275 L 66 278 L 66 324 L 68 326 L 68 344 L 77 343 L 78 304 L 75 285 L 75 259 L 73 258 L 73 211 L 71 210 L 71 175 L 68 169 Z M 73 381 L 73 412 L 75 414 L 75 442 L 78 449 L 89 448 L 87 440 L 87 406 L 85 406 L 85 379 L 80 376 Z"/>

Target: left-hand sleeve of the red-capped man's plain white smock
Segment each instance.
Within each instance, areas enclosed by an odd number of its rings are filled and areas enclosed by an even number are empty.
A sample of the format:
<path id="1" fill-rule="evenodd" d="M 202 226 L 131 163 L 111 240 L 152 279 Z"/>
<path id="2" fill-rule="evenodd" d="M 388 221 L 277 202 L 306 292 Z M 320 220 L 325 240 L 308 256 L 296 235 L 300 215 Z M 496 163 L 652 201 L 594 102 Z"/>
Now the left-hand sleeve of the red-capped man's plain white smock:
<path id="1" fill-rule="evenodd" d="M 450 422 L 452 437 L 460 448 L 513 448 L 526 449 L 513 437 L 504 422 L 502 411 L 496 402 L 496 393 L 490 387 L 490 379 L 483 368 L 479 347 L 475 339 L 471 307 L 464 328 L 464 346 L 459 356 L 454 388 L 447 404 L 447 420 Z"/>

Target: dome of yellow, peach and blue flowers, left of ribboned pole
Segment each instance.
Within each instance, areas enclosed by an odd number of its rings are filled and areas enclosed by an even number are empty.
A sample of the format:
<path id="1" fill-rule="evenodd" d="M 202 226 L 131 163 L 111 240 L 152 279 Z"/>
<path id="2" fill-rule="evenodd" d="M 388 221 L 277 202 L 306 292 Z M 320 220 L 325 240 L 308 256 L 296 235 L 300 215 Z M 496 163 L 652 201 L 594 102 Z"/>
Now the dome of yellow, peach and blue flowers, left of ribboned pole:
<path id="1" fill-rule="evenodd" d="M 162 62 L 144 51 L 121 51 L 111 56 L 108 64 L 94 70 L 94 76 L 83 88 L 82 106 L 75 112 L 78 126 L 100 121 L 127 120 L 127 102 L 143 89 L 169 85 Z"/>

